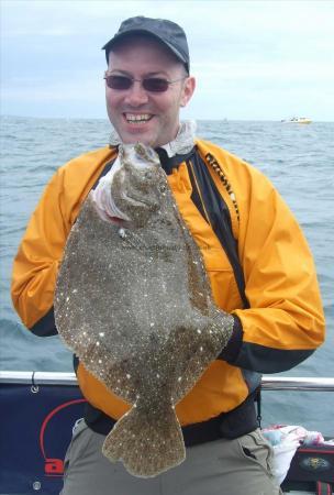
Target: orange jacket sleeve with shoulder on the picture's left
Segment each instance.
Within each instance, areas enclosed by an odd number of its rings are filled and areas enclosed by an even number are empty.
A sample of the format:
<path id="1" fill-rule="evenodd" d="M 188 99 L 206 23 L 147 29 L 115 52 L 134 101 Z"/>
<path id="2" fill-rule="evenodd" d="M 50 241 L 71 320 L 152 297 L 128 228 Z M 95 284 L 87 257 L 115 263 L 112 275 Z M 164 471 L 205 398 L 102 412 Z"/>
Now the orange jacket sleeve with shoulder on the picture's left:
<path id="1" fill-rule="evenodd" d="M 11 295 L 23 323 L 37 336 L 57 333 L 53 300 L 66 240 L 82 201 L 115 154 L 105 146 L 60 167 L 31 217 L 14 258 Z"/>

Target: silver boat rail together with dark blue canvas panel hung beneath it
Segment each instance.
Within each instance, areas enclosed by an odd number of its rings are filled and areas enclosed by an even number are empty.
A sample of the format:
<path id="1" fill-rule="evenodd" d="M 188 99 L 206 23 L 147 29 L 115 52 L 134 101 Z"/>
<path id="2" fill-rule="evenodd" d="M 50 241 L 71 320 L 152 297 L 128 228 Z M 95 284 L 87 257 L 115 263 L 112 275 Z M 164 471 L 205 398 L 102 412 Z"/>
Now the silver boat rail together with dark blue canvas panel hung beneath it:
<path id="1" fill-rule="evenodd" d="M 261 388 L 334 392 L 334 378 L 266 376 Z M 0 494 L 59 493 L 85 403 L 74 373 L 0 372 Z"/>

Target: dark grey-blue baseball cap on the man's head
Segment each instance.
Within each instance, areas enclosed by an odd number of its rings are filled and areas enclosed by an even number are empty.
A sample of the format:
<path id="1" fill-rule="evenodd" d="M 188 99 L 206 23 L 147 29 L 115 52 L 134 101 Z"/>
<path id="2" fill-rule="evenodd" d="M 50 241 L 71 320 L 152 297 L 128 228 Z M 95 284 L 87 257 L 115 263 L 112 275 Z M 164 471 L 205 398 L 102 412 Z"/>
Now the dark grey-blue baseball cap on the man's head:
<path id="1" fill-rule="evenodd" d="M 169 48 L 182 62 L 189 74 L 189 48 L 182 28 L 165 19 L 151 19 L 138 15 L 122 22 L 116 34 L 102 46 L 108 63 L 109 52 L 114 43 L 129 34 L 149 34 Z"/>

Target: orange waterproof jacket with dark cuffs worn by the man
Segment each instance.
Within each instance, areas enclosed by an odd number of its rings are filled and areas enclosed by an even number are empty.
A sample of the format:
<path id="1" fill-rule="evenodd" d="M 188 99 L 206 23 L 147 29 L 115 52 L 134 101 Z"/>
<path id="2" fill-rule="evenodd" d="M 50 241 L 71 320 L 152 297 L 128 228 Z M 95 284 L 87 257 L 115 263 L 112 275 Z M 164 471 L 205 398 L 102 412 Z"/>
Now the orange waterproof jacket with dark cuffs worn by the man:
<path id="1" fill-rule="evenodd" d="M 51 334 L 55 282 L 66 239 L 82 201 L 115 153 L 104 147 L 60 167 L 30 220 L 14 260 L 12 299 L 24 324 L 36 334 Z M 169 186 L 201 249 L 218 306 L 237 317 L 242 329 L 237 348 L 233 343 L 233 358 L 229 350 L 223 352 L 177 405 L 183 426 L 233 410 L 258 384 L 259 373 L 294 366 L 324 339 L 313 258 L 287 205 L 261 173 L 236 156 L 201 140 L 197 153 L 229 208 L 249 308 L 243 307 L 218 237 L 191 200 L 189 168 L 181 163 L 168 175 Z M 77 375 L 93 407 L 114 419 L 129 409 L 81 364 Z"/>

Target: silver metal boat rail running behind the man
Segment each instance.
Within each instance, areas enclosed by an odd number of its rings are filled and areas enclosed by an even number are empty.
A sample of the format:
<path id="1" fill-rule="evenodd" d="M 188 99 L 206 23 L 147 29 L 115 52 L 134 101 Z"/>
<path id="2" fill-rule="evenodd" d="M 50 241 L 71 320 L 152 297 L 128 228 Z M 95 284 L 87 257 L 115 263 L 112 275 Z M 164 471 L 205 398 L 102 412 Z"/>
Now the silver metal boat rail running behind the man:
<path id="1" fill-rule="evenodd" d="M 68 385 L 77 386 L 75 373 L 0 371 L 0 384 L 32 385 Z M 330 377 L 297 377 L 297 376 L 264 376 L 263 391 L 298 391 L 298 392 L 334 392 L 334 378 Z"/>

